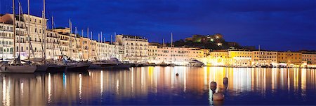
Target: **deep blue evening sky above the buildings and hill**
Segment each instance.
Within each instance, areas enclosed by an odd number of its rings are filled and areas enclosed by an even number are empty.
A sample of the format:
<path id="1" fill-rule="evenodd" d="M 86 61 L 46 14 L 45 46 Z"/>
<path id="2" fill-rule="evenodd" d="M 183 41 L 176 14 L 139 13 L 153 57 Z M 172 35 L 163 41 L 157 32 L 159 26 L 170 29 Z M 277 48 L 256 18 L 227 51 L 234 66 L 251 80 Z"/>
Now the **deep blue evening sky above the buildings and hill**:
<path id="1" fill-rule="evenodd" d="M 27 13 L 27 0 L 22 1 Z M 12 13 L 12 0 L 1 0 L 1 13 Z M 41 16 L 41 0 L 31 14 Z M 16 5 L 18 6 L 18 5 Z M 117 33 L 145 36 L 150 42 L 222 33 L 241 45 L 267 50 L 316 50 L 315 0 L 46 0 L 46 17 L 56 27 L 89 27 L 107 40 Z M 84 33 L 86 36 L 86 33 Z"/>

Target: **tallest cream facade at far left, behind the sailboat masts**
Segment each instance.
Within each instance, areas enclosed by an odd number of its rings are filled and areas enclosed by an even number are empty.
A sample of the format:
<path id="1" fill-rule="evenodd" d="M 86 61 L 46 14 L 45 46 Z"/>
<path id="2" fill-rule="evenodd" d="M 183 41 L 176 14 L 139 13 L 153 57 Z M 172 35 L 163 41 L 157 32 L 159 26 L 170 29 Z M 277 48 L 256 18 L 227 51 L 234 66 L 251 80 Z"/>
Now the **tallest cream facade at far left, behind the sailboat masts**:
<path id="1" fill-rule="evenodd" d="M 18 51 L 20 51 L 21 59 L 26 59 L 30 54 L 33 54 L 33 52 L 35 57 L 31 55 L 31 58 L 44 57 L 44 50 L 46 50 L 46 45 L 43 44 L 44 41 L 47 40 L 44 34 L 46 31 L 46 19 L 32 15 L 29 16 L 26 14 L 18 17 L 18 15 L 13 16 L 13 14 L 9 13 L 2 15 L 0 19 L 0 22 L 11 24 L 12 26 L 13 20 L 15 20 L 16 22 L 16 56 L 18 56 Z M 29 35 L 27 35 L 27 33 L 29 33 Z M 29 41 L 32 44 L 32 50 L 29 50 Z M 20 47 L 18 46 L 18 43 L 20 43 Z"/>

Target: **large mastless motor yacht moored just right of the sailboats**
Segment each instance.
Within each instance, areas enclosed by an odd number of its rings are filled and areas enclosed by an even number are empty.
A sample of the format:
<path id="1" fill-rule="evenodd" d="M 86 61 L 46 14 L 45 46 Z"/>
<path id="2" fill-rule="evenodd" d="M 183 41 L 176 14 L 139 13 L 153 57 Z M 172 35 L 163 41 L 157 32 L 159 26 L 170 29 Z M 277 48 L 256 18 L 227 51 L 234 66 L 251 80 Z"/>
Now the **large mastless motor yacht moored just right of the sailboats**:
<path id="1" fill-rule="evenodd" d="M 121 63 L 117 58 L 93 62 L 90 68 L 131 68 L 130 63 Z"/>

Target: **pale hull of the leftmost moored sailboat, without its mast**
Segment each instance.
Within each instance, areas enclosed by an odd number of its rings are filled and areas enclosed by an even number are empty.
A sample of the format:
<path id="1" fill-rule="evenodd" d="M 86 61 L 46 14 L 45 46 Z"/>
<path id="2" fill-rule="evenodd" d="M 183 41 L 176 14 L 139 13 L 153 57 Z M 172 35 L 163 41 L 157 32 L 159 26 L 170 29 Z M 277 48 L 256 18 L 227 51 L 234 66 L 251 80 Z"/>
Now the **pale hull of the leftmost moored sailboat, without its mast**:
<path id="1" fill-rule="evenodd" d="M 24 65 L 24 66 L 1 66 L 0 73 L 34 73 L 37 66 Z"/>

